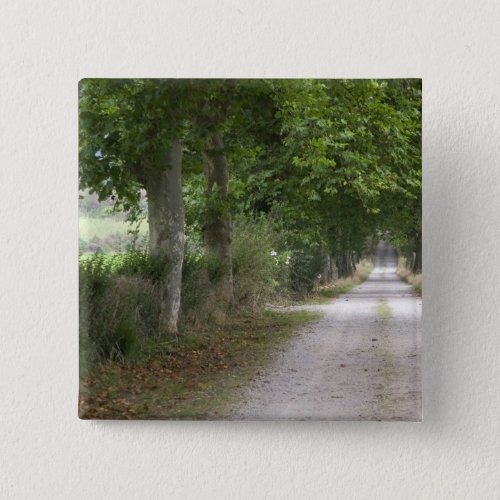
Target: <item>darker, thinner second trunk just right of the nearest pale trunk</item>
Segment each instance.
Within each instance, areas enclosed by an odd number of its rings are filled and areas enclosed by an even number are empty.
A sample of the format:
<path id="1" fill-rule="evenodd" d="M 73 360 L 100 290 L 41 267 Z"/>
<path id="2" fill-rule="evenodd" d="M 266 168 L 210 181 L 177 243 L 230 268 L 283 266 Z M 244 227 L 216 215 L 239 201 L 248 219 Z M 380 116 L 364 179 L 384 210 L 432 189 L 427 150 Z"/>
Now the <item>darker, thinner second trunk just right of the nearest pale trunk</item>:
<path id="1" fill-rule="evenodd" d="M 204 159 L 206 191 L 210 199 L 204 228 L 205 248 L 207 255 L 215 258 L 221 266 L 218 282 L 221 298 L 233 302 L 231 216 L 227 207 L 229 168 L 221 133 L 210 138 Z"/>

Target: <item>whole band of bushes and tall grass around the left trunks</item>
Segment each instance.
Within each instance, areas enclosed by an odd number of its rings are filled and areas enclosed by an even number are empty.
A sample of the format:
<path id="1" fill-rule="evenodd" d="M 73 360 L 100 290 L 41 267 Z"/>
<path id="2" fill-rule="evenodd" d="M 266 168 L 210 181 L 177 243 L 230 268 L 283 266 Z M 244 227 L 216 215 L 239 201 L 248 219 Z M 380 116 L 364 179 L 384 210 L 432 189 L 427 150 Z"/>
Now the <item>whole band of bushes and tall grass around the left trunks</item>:
<path id="1" fill-rule="evenodd" d="M 181 331 L 223 323 L 234 310 L 259 311 L 291 292 L 307 294 L 320 266 L 314 254 L 286 250 L 284 235 L 265 217 L 234 219 L 232 258 L 235 300 L 226 304 L 218 290 L 223 264 L 205 256 L 199 235 L 189 235 Z M 160 282 L 168 271 L 168 261 L 141 250 L 80 256 L 80 329 L 88 359 L 132 359 L 157 336 Z"/>

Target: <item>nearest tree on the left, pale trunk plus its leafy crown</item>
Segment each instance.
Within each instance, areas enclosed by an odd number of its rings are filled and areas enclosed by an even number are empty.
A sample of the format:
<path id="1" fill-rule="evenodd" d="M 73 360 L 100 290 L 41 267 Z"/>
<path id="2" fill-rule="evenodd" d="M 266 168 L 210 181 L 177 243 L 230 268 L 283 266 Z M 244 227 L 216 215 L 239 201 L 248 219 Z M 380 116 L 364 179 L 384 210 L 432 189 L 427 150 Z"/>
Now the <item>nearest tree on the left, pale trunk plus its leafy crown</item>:
<path id="1" fill-rule="evenodd" d="M 172 80 L 83 80 L 80 187 L 133 219 L 142 189 L 159 273 L 162 333 L 176 333 L 184 255 L 181 190 L 186 88 Z"/>

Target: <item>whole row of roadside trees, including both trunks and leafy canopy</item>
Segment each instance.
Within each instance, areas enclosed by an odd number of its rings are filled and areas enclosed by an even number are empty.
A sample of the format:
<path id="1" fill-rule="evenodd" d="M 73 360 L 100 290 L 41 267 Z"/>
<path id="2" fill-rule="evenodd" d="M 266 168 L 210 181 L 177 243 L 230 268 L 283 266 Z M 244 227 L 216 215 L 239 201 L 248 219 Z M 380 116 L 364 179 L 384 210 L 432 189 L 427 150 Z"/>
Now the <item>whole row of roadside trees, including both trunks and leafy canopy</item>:
<path id="1" fill-rule="evenodd" d="M 159 328 L 177 331 L 185 227 L 231 303 L 231 218 L 272 217 L 323 279 L 386 231 L 421 268 L 419 80 L 84 80 L 80 185 L 139 216 L 163 259 Z M 184 201 L 189 217 L 185 222 Z M 195 209 L 193 209 L 195 207 Z M 186 226 L 187 224 L 187 226 Z"/>

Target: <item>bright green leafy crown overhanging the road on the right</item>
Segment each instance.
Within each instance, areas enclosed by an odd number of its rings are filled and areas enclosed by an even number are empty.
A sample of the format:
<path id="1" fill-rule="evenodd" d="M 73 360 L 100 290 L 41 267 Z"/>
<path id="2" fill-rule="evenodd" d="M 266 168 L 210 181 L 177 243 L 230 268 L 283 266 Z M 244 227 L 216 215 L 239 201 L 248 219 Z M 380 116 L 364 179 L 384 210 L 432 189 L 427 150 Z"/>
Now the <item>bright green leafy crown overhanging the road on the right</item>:
<path id="1" fill-rule="evenodd" d="M 235 169 L 245 209 L 277 211 L 291 244 L 319 247 L 324 267 L 335 261 L 340 275 L 352 272 L 369 237 L 380 231 L 400 252 L 403 243 L 412 246 L 418 268 L 420 81 L 259 85 L 260 110 L 248 107 L 247 137 L 239 136 L 248 154 Z"/>

